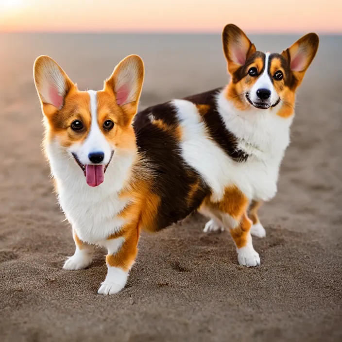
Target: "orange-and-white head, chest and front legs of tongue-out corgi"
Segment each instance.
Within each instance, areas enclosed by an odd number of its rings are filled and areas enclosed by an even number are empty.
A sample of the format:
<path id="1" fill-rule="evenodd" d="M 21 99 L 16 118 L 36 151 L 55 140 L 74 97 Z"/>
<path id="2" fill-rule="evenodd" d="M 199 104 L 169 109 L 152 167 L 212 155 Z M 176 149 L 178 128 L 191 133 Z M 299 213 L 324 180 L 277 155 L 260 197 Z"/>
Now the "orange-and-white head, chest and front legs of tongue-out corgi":
<path id="1" fill-rule="evenodd" d="M 50 57 L 34 62 L 46 128 L 44 150 L 76 245 L 64 269 L 85 268 L 95 246 L 106 247 L 108 274 L 101 294 L 125 286 L 137 255 L 140 226 L 149 219 L 141 214 L 150 191 L 149 172 L 132 125 L 143 78 L 141 58 L 130 55 L 102 90 L 80 91 Z M 151 205 L 154 202 L 152 198 Z"/>

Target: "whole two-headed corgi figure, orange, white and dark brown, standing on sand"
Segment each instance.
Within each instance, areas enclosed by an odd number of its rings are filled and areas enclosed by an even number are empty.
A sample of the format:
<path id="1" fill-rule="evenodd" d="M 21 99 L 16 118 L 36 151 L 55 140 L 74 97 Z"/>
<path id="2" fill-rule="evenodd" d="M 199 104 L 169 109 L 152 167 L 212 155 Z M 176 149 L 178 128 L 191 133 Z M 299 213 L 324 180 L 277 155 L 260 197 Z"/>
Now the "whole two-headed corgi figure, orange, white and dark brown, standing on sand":
<path id="1" fill-rule="evenodd" d="M 124 58 L 100 91 L 80 91 L 50 57 L 34 62 L 58 202 L 72 226 L 75 253 L 65 270 L 106 248 L 98 293 L 121 291 L 137 257 L 141 229 L 159 231 L 198 210 L 205 232 L 229 229 L 238 262 L 260 265 L 251 233 L 264 236 L 257 209 L 276 193 L 289 145 L 295 91 L 318 36 L 281 54 L 263 53 L 235 25 L 222 34 L 230 83 L 137 113 L 141 58 Z"/>

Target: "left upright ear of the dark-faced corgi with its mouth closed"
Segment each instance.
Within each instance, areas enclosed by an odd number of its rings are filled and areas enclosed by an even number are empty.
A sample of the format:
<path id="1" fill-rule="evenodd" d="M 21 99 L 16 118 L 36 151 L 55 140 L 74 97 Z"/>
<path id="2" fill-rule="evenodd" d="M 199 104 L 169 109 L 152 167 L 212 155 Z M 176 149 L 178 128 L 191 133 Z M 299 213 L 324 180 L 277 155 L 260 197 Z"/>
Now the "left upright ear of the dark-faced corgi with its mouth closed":
<path id="1" fill-rule="evenodd" d="M 228 71 L 231 75 L 241 68 L 247 58 L 256 52 L 255 45 L 247 38 L 247 35 L 234 24 L 228 24 L 222 32 L 223 52 L 228 63 Z"/>

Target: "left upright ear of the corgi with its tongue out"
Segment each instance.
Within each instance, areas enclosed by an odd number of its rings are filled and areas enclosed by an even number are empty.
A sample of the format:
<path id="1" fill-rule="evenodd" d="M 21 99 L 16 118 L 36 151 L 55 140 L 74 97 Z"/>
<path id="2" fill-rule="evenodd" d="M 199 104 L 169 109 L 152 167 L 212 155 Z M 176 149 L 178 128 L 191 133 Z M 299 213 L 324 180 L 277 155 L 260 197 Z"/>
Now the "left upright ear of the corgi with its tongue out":
<path id="1" fill-rule="evenodd" d="M 34 62 L 33 69 L 34 84 L 43 113 L 49 115 L 62 109 L 65 97 L 75 85 L 49 56 L 39 56 Z"/>

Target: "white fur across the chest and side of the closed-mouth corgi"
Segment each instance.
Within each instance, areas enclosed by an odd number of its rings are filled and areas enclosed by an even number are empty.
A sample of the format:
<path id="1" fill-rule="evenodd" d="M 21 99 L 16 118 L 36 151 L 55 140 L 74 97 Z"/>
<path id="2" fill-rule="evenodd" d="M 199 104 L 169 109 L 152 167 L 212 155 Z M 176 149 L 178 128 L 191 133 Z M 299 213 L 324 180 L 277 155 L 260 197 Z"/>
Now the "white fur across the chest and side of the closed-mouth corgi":
<path id="1" fill-rule="evenodd" d="M 183 158 L 203 176 L 213 200 L 220 200 L 229 185 L 240 188 L 250 200 L 274 197 L 279 166 L 290 142 L 291 118 L 280 118 L 275 110 L 237 113 L 223 93 L 219 94 L 218 109 L 224 124 L 238 137 L 239 148 L 250 155 L 247 162 L 238 163 L 208 136 L 193 103 L 174 100 L 173 104 L 182 127 Z"/>

